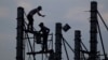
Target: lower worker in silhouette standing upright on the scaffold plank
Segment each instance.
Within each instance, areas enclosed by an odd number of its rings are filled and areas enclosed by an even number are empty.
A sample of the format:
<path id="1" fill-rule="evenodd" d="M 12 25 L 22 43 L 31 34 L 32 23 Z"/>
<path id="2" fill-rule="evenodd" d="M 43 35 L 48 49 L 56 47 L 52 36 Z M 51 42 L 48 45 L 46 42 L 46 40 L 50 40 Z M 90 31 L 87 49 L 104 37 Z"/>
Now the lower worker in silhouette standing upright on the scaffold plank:
<path id="1" fill-rule="evenodd" d="M 39 27 L 41 28 L 39 32 L 41 33 L 41 38 L 43 40 L 42 51 L 46 51 L 48 50 L 48 36 L 49 36 L 50 29 L 46 28 L 43 22 L 40 22 Z"/>

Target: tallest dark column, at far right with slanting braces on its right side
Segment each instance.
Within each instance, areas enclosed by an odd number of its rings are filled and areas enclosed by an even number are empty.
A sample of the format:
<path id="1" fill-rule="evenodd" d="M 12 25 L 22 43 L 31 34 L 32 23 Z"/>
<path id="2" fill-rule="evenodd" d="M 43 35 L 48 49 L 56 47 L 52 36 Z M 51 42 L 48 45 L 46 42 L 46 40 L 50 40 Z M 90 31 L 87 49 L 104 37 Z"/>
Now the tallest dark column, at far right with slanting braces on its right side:
<path id="1" fill-rule="evenodd" d="M 97 60 L 97 2 L 91 2 L 91 30 L 89 60 Z"/>

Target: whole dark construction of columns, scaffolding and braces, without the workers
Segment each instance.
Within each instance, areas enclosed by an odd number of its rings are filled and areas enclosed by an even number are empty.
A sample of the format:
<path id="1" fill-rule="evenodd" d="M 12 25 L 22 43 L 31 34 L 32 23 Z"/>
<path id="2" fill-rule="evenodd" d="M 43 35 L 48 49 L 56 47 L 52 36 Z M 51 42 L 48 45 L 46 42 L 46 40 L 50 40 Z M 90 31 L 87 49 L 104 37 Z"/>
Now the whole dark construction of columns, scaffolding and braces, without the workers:
<path id="1" fill-rule="evenodd" d="M 66 24 L 66 26 L 63 27 L 60 22 L 56 22 L 55 33 L 48 34 L 50 39 L 48 39 L 46 42 L 48 44 L 46 50 L 41 50 L 44 41 L 43 39 L 41 39 L 42 35 L 35 28 L 33 30 L 27 29 L 28 24 L 24 18 L 25 10 L 22 6 L 17 8 L 16 60 L 63 60 L 62 46 L 64 46 L 67 60 L 108 60 L 97 17 L 100 17 L 107 30 L 108 27 L 97 10 L 96 1 L 91 1 L 90 13 L 91 13 L 90 49 L 87 49 L 83 44 L 83 42 L 81 41 L 80 30 L 75 31 L 75 49 L 73 49 L 71 45 L 69 45 L 68 42 L 65 40 L 62 33 L 63 30 L 68 31 L 70 29 L 70 26 Z M 103 54 L 99 54 L 99 51 L 97 50 L 97 44 L 98 44 L 97 34 L 99 34 L 100 38 Z M 55 39 L 53 40 L 53 38 Z M 73 59 L 70 59 L 66 45 L 75 54 Z M 40 47 L 41 49 L 38 49 L 37 46 Z M 103 59 L 100 58 L 102 56 L 104 56 Z"/>

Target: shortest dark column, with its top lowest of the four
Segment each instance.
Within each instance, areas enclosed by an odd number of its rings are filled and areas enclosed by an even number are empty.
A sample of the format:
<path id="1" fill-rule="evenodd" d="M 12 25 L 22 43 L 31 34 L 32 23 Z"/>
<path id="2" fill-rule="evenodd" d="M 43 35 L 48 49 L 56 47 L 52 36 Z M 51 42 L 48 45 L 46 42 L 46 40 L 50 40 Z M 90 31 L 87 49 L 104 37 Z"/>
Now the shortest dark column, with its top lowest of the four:
<path id="1" fill-rule="evenodd" d="M 81 31 L 75 31 L 75 60 L 80 60 L 80 48 L 81 48 Z"/>

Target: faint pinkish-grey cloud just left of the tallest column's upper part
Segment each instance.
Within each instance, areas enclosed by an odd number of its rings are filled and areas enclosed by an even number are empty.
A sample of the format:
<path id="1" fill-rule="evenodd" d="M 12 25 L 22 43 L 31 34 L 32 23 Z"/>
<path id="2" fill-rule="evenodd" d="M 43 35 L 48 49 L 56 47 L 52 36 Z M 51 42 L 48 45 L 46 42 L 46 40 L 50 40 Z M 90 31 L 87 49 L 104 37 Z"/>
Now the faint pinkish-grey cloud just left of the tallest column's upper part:
<path id="1" fill-rule="evenodd" d="M 67 12 L 66 12 L 66 15 L 65 15 L 65 18 L 67 19 L 83 19 L 85 18 L 85 12 L 86 11 L 86 8 L 73 8 L 73 9 L 69 9 Z M 87 17 L 89 18 L 89 17 Z"/>

